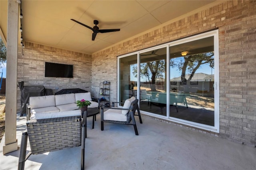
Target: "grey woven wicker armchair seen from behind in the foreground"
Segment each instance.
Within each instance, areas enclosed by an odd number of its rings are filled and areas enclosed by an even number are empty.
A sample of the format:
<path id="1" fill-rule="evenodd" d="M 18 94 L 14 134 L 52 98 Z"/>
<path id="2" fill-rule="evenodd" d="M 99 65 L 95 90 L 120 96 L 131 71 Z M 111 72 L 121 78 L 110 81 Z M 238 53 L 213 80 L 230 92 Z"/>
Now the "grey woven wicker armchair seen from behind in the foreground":
<path id="1" fill-rule="evenodd" d="M 34 119 L 26 123 L 22 133 L 18 170 L 24 170 L 25 161 L 31 154 L 42 154 L 72 147 L 81 147 L 81 170 L 84 170 L 86 119 L 80 116 Z M 29 139 L 31 151 L 26 155 Z"/>

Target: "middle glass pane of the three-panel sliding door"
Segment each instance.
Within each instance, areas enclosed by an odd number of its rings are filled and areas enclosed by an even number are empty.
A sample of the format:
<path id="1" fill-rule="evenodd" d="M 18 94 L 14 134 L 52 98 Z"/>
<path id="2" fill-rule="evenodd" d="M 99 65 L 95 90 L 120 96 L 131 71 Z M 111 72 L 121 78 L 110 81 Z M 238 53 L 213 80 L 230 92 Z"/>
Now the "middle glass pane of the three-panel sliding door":
<path id="1" fill-rule="evenodd" d="M 166 100 L 159 94 L 166 92 L 166 48 L 140 54 L 140 108 L 166 116 Z"/>

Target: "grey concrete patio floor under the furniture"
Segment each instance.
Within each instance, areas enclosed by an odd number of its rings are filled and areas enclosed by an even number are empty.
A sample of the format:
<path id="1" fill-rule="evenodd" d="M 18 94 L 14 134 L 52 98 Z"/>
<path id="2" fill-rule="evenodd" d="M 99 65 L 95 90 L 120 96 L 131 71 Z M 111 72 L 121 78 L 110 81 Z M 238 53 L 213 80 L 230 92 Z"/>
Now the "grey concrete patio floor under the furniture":
<path id="1" fill-rule="evenodd" d="M 255 170 L 256 148 L 185 127 L 142 117 L 136 123 L 136 136 L 130 125 L 105 123 L 100 130 L 100 115 L 94 129 L 88 117 L 85 149 L 86 170 Z M 20 144 L 26 117 L 17 115 Z M 17 170 L 19 150 L 2 154 L 0 169 Z M 29 145 L 27 151 L 30 150 Z M 31 155 L 25 170 L 79 170 L 80 147 Z"/>

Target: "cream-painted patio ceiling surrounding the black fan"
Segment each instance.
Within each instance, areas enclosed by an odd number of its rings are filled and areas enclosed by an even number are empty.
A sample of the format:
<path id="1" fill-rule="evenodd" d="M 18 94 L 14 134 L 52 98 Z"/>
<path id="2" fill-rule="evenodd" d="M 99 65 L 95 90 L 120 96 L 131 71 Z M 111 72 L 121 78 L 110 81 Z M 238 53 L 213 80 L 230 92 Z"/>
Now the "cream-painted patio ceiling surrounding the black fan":
<path id="1" fill-rule="evenodd" d="M 114 45 L 182 15 L 196 14 L 214 0 L 22 0 L 24 41 L 86 54 Z M 0 28 L 7 36 L 7 0 L 0 1 Z M 118 32 L 98 33 L 70 19 L 100 29 Z"/>

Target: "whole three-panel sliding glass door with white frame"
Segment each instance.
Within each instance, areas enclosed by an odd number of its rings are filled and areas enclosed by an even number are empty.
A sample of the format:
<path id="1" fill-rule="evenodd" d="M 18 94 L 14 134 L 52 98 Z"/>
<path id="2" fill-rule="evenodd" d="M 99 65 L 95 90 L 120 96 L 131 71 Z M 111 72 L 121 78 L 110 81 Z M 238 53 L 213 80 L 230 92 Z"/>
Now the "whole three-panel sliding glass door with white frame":
<path id="1" fill-rule="evenodd" d="M 218 30 L 120 56 L 119 100 L 142 113 L 218 132 Z"/>

